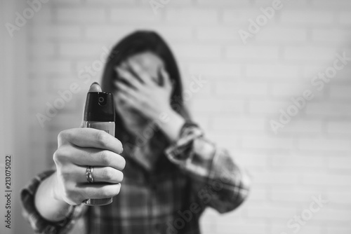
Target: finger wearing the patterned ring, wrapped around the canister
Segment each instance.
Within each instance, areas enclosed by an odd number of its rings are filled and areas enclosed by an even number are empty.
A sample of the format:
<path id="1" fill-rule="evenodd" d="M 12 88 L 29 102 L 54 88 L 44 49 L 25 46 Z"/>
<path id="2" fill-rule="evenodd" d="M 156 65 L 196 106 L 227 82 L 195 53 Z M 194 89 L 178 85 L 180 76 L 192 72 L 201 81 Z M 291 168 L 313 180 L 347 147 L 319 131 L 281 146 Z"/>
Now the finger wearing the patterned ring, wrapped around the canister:
<path id="1" fill-rule="evenodd" d="M 87 167 L 78 167 L 77 170 L 72 172 L 72 176 L 77 178 L 77 183 L 87 183 L 86 179 L 86 168 Z M 91 174 L 93 175 L 93 183 L 111 183 L 117 184 L 123 181 L 123 173 L 120 170 L 116 170 L 113 167 L 91 167 Z"/>

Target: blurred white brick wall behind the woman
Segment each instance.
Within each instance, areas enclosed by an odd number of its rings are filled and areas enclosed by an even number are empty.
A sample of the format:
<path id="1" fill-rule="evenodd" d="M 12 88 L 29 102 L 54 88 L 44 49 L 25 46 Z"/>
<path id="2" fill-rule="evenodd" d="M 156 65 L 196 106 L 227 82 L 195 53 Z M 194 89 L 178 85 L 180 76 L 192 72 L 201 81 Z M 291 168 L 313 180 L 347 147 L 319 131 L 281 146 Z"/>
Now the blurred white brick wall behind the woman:
<path id="1" fill-rule="evenodd" d="M 351 1 L 42 0 L 33 15 L 29 2 L 1 0 L 0 8 L 0 172 L 11 154 L 15 205 L 13 228 L 1 220 L 1 230 L 33 233 L 20 188 L 53 165 L 58 132 L 79 126 L 101 55 L 150 29 L 176 55 L 194 120 L 253 177 L 244 205 L 206 210 L 203 233 L 351 233 L 351 60 L 340 60 L 351 57 Z M 16 12 L 27 14 L 20 27 Z M 189 92 L 198 77 L 207 83 Z M 79 92 L 58 101 L 72 84 Z"/>

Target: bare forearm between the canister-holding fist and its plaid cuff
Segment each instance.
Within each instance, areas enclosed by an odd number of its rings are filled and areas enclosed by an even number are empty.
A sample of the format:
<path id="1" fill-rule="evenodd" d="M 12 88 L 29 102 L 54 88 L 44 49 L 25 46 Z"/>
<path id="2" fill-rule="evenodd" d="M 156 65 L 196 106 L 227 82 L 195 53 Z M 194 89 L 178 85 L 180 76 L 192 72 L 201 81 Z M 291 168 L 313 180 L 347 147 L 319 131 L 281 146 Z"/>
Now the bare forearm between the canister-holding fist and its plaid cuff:
<path id="1" fill-rule="evenodd" d="M 41 182 L 34 197 L 34 204 L 39 214 L 53 222 L 65 219 L 72 208 L 67 202 L 55 198 L 55 186 L 57 186 L 56 172 Z"/>

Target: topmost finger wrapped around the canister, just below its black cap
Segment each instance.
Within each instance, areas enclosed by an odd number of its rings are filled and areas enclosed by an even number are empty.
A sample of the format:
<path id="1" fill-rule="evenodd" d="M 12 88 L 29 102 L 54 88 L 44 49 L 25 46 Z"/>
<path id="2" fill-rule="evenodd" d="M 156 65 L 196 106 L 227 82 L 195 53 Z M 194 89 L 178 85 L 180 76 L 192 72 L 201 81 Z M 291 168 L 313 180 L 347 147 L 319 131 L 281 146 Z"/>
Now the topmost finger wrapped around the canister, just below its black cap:
<path id="1" fill-rule="evenodd" d="M 114 153 L 122 153 L 121 142 L 105 131 L 94 128 L 71 128 L 60 132 L 58 142 L 69 142 L 84 148 L 107 149 Z"/>

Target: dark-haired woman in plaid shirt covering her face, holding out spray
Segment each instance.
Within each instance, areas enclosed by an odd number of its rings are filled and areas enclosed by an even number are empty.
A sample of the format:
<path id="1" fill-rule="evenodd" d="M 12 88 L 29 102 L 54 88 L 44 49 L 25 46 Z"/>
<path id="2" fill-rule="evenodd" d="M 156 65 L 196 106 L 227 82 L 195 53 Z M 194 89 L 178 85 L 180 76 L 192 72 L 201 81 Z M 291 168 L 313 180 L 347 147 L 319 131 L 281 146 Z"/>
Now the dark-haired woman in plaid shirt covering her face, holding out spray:
<path id="1" fill-rule="evenodd" d="M 87 233 L 200 233 L 206 207 L 223 213 L 244 201 L 246 174 L 190 118 L 176 61 L 158 34 L 128 35 L 110 58 L 102 90 L 114 94 L 116 138 L 60 132 L 55 170 L 22 190 L 23 214 L 37 233 L 67 233 L 78 220 Z M 88 183 L 88 166 L 100 183 Z M 113 196 L 111 205 L 82 203 Z"/>

